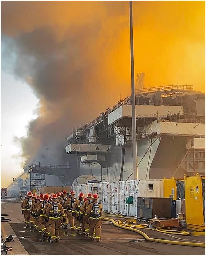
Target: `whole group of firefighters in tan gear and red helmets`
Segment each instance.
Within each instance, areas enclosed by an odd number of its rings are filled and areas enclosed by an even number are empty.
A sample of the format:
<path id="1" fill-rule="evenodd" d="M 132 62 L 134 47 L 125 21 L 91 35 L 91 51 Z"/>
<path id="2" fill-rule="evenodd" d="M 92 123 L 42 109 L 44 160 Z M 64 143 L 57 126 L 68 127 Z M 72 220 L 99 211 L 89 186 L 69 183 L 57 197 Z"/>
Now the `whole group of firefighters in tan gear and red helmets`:
<path id="1" fill-rule="evenodd" d="M 70 225 L 71 236 L 76 233 L 85 234 L 89 239 L 100 241 L 102 205 L 98 203 L 98 195 L 83 193 L 75 198 L 75 192 L 51 194 L 32 194 L 27 192 L 21 204 L 26 227 L 38 231 L 42 239 L 49 242 L 60 240 L 59 228 Z"/>

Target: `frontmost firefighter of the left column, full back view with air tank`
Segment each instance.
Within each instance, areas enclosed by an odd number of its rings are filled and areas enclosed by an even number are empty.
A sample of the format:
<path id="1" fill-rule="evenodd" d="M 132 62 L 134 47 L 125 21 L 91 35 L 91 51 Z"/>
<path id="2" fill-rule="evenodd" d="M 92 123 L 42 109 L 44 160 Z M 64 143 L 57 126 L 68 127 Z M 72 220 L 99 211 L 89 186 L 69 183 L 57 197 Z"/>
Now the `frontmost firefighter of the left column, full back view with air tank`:
<path id="1" fill-rule="evenodd" d="M 59 237 L 59 226 L 61 223 L 61 216 L 65 221 L 65 213 L 61 203 L 57 202 L 57 195 L 52 196 L 52 202 L 48 205 L 45 214 L 45 221 L 49 224 L 49 230 L 51 232 L 51 236 L 49 237 L 49 241 L 51 243 L 60 240 Z"/>

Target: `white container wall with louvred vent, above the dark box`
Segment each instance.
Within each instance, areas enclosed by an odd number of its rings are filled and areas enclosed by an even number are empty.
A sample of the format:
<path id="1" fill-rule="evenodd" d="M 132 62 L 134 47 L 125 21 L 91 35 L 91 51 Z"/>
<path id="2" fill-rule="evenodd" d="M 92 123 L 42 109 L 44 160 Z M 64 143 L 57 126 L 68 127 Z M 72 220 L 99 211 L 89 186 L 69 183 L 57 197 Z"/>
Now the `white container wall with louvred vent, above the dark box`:
<path id="1" fill-rule="evenodd" d="M 138 180 L 138 197 L 164 197 L 162 180 Z"/>

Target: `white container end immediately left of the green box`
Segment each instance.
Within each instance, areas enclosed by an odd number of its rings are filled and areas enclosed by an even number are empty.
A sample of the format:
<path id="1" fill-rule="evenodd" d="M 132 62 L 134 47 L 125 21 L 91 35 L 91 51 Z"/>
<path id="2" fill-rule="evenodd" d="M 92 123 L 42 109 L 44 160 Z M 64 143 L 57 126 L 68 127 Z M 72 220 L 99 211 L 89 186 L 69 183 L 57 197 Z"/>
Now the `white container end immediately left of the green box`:
<path id="1" fill-rule="evenodd" d="M 128 181 L 119 181 L 119 213 L 125 216 L 129 216 L 129 206 L 126 203 L 128 197 Z"/>

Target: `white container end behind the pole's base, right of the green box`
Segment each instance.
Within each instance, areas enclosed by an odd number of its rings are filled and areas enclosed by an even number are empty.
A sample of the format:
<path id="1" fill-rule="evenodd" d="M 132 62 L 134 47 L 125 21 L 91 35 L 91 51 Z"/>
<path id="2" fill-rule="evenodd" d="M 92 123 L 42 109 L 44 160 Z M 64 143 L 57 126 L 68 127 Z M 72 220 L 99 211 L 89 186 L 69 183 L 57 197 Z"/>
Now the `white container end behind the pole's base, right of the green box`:
<path id="1" fill-rule="evenodd" d="M 133 197 L 133 204 L 129 204 L 129 216 L 137 216 L 137 197 L 139 196 L 139 181 L 130 180 L 128 184 L 128 196 Z"/>

